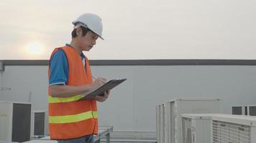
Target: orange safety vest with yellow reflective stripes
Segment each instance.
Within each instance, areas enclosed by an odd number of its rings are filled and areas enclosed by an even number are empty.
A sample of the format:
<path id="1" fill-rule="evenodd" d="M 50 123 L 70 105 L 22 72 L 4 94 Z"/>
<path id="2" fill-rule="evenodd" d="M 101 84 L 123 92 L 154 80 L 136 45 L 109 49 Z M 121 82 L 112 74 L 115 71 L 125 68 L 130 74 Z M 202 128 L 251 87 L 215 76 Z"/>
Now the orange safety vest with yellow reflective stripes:
<path id="1" fill-rule="evenodd" d="M 70 46 L 56 48 L 52 55 L 63 49 L 68 59 L 67 85 L 81 86 L 92 84 L 91 69 L 86 58 L 86 70 L 75 49 Z M 51 56 L 52 56 L 51 55 Z M 50 77 L 50 66 L 48 78 Z M 51 139 L 73 139 L 88 134 L 98 134 L 98 112 L 96 100 L 83 100 L 82 94 L 73 97 L 52 97 L 48 87 L 49 131 Z"/>

